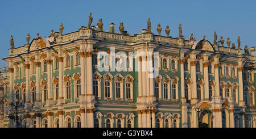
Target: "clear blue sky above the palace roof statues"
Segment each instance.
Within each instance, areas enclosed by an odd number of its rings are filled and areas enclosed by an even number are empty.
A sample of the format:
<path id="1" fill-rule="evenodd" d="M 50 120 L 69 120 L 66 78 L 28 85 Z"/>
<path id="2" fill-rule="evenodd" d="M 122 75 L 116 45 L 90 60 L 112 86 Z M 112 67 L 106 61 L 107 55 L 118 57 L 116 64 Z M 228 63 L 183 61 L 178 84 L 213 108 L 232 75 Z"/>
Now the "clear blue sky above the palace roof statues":
<path id="1" fill-rule="evenodd" d="M 14 37 L 14 45 L 20 47 L 27 43 L 26 36 L 31 39 L 49 36 L 51 29 L 59 31 L 64 24 L 63 33 L 79 30 L 87 26 L 89 12 L 92 12 L 96 26 L 102 18 L 104 31 L 109 31 L 109 24 L 115 23 L 115 31 L 119 31 L 119 23 L 123 22 L 125 30 L 131 35 L 141 33 L 147 28 L 147 19 L 151 20 L 151 31 L 157 34 L 157 24 L 161 24 L 162 35 L 168 25 L 170 36 L 177 37 L 179 23 L 182 24 L 183 36 L 188 39 L 194 33 L 196 40 L 206 35 L 213 41 L 214 31 L 218 40 L 230 37 L 237 46 L 237 37 L 241 38 L 241 47 L 256 46 L 256 1 L 7 1 L 0 0 L 0 58 L 9 56 L 10 35 Z M 225 42 L 226 44 L 226 42 Z M 0 60 L 0 68 L 7 65 Z"/>

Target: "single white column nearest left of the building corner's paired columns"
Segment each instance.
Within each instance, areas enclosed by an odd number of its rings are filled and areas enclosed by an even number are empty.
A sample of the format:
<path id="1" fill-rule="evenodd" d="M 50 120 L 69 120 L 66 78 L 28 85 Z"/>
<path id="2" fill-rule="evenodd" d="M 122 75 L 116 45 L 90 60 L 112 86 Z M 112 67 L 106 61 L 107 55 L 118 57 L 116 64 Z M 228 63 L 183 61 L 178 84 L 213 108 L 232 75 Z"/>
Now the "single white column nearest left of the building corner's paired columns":
<path id="1" fill-rule="evenodd" d="M 60 52 L 60 51 L 59 51 Z M 58 105 L 64 103 L 64 92 L 63 92 L 63 57 L 58 57 L 59 60 L 59 98 Z"/>

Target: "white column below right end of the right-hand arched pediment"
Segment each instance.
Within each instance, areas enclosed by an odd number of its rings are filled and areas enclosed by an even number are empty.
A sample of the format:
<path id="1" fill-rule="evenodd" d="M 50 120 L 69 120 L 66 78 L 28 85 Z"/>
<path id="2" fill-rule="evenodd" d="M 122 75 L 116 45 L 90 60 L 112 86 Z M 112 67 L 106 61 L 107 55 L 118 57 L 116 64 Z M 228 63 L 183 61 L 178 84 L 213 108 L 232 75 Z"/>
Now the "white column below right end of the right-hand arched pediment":
<path id="1" fill-rule="evenodd" d="M 215 95 L 220 96 L 220 75 L 218 74 L 219 58 L 214 57 L 214 80 L 215 80 Z"/>

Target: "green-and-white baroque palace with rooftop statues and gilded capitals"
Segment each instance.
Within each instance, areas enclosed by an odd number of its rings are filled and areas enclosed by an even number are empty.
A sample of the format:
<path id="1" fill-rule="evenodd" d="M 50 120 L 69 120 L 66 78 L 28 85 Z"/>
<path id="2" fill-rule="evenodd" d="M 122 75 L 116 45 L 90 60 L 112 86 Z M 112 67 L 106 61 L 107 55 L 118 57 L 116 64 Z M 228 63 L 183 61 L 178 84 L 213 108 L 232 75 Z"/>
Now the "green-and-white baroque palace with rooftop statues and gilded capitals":
<path id="1" fill-rule="evenodd" d="M 177 38 L 168 27 L 167 36 L 159 27 L 159 35 L 148 26 L 134 36 L 120 27 L 105 32 L 99 20 L 63 34 L 61 24 L 49 37 L 29 43 L 28 34 L 26 45 L 13 45 L 0 78 L 1 127 L 16 127 L 15 100 L 24 102 L 20 127 L 256 127 L 254 48 L 185 40 L 181 24 Z"/>

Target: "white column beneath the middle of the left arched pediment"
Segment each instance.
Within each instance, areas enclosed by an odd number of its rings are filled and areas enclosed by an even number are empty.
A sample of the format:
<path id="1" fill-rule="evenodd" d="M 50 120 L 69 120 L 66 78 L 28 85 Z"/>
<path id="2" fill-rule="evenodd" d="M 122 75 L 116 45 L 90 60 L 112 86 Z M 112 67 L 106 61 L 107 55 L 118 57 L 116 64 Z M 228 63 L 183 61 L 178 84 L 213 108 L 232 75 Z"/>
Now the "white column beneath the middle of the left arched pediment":
<path id="1" fill-rule="evenodd" d="M 41 106 L 41 100 L 40 100 L 40 66 L 41 62 L 35 62 L 36 65 L 36 104 L 35 107 Z M 37 123 L 37 122 L 36 122 Z"/>

